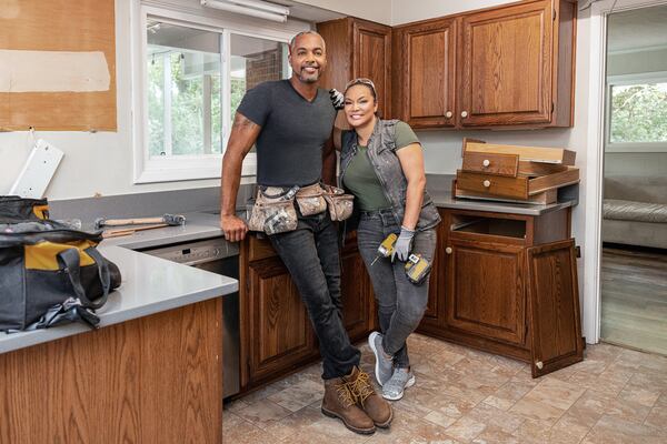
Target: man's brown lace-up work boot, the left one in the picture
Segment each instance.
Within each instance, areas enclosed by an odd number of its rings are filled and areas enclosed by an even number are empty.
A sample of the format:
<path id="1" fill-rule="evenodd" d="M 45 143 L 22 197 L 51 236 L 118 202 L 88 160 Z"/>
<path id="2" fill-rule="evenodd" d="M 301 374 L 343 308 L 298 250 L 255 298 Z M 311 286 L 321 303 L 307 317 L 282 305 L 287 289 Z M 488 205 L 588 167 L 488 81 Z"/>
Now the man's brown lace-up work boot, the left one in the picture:
<path id="1" fill-rule="evenodd" d="M 372 420 L 357 406 L 348 384 L 340 377 L 325 380 L 322 413 L 330 417 L 340 418 L 345 426 L 352 432 L 364 435 L 375 433 Z"/>

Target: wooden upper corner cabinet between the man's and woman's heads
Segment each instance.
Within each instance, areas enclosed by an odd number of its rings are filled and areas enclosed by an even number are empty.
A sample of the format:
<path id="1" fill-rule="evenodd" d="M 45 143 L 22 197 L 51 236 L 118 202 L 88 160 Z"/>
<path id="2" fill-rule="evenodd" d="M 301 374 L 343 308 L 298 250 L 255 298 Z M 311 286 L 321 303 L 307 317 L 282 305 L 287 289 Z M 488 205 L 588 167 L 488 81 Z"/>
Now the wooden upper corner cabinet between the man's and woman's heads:
<path id="1" fill-rule="evenodd" d="M 391 28 L 348 17 L 317 23 L 317 31 L 327 44 L 321 87 L 342 92 L 348 81 L 368 78 L 376 84 L 378 112 L 391 117 Z"/>

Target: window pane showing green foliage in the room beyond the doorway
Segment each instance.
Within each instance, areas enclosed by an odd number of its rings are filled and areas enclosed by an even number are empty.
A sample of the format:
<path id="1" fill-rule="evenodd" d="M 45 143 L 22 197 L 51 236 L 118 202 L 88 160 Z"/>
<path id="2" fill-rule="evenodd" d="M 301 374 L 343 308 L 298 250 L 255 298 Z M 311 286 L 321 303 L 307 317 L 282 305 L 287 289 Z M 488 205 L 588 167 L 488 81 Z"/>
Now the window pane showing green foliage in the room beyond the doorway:
<path id="1" fill-rule="evenodd" d="M 667 142 L 667 83 L 611 87 L 611 143 Z"/>

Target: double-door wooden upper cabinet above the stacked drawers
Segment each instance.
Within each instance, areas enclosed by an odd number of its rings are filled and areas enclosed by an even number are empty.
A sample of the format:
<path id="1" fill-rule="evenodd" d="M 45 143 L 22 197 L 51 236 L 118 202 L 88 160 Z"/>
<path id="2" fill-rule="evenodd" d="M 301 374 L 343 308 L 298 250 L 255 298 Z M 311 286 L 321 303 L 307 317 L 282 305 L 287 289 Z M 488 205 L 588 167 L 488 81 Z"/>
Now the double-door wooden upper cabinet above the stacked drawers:
<path id="1" fill-rule="evenodd" d="M 571 127 L 575 43 L 570 0 L 401 26 L 394 37 L 394 109 L 416 128 Z"/>

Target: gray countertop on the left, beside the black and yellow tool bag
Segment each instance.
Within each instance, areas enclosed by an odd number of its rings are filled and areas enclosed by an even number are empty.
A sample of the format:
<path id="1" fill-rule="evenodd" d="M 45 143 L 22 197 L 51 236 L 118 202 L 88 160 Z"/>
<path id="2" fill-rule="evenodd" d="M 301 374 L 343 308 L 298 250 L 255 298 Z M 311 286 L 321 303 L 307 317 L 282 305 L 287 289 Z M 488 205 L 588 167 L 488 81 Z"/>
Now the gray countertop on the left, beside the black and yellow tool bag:
<path id="1" fill-rule="evenodd" d="M 210 225 L 208 231 L 197 226 L 192 223 L 192 226 L 183 228 L 187 232 L 181 234 L 172 233 L 172 228 L 153 230 L 156 233 L 151 236 L 152 242 L 166 244 L 172 240 L 220 234 L 219 229 Z M 162 234 L 158 235 L 157 232 Z M 141 236 L 147 234 L 141 233 Z M 126 245 L 150 243 L 149 240 L 137 241 L 132 238 L 135 236 L 125 240 Z M 117 240 L 117 243 L 122 243 L 122 240 Z M 97 311 L 100 327 L 222 296 L 238 291 L 239 287 L 236 279 L 138 253 L 108 241 L 100 244 L 100 252 L 118 265 L 122 275 L 121 286 L 109 294 L 107 304 Z M 0 333 L 0 353 L 88 331 L 90 329 L 81 324 L 68 324 L 31 332 Z"/>

